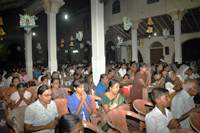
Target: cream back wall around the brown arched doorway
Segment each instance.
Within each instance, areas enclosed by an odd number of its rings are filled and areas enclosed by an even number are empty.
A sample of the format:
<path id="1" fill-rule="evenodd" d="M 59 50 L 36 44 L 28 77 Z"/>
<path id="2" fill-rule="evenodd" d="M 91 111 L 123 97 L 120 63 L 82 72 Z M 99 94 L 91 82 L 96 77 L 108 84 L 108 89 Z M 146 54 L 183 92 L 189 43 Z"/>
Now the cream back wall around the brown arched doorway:
<path id="1" fill-rule="evenodd" d="M 188 41 L 190 39 L 200 38 L 200 32 L 197 33 L 189 33 L 181 35 L 181 43 Z M 175 52 L 175 44 L 173 42 L 173 38 L 164 39 L 163 36 L 159 37 L 151 37 L 151 39 L 145 38 L 144 40 L 144 48 L 138 46 L 138 50 L 141 52 L 143 61 L 145 63 L 150 63 L 150 45 L 153 42 L 160 42 L 163 45 L 163 55 L 165 56 L 165 61 L 169 64 L 172 63 L 173 54 Z M 131 40 L 126 41 L 126 44 L 131 44 Z M 165 55 L 165 47 L 169 47 L 169 55 Z"/>

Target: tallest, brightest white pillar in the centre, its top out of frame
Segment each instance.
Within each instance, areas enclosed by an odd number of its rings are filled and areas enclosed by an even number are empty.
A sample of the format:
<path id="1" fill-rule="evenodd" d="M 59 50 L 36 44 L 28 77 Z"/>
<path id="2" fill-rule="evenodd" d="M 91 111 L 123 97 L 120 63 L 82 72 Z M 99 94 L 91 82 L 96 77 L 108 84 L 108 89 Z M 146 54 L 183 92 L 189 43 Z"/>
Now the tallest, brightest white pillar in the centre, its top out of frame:
<path id="1" fill-rule="evenodd" d="M 100 75 L 105 73 L 105 34 L 104 34 L 104 3 L 91 0 L 92 21 L 92 71 L 93 80 L 97 85 Z"/>

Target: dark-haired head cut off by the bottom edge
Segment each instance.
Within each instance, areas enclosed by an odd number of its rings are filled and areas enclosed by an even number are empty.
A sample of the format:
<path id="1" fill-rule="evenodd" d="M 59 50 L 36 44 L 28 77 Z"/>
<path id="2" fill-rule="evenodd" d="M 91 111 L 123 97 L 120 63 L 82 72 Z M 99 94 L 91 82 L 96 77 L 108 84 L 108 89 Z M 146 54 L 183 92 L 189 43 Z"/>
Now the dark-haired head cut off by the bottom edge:
<path id="1" fill-rule="evenodd" d="M 56 129 L 56 133 L 84 133 L 82 120 L 73 114 L 64 114 Z"/>

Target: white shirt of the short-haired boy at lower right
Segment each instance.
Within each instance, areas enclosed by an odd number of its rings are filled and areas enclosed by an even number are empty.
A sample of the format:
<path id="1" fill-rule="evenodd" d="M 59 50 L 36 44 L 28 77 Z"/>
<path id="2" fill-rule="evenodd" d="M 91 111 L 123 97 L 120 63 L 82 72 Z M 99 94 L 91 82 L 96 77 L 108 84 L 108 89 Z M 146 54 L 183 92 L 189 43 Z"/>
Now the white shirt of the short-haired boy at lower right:
<path id="1" fill-rule="evenodd" d="M 167 125 L 173 119 L 172 113 L 165 108 L 164 115 L 157 107 L 149 112 L 145 117 L 147 133 L 170 133 Z"/>

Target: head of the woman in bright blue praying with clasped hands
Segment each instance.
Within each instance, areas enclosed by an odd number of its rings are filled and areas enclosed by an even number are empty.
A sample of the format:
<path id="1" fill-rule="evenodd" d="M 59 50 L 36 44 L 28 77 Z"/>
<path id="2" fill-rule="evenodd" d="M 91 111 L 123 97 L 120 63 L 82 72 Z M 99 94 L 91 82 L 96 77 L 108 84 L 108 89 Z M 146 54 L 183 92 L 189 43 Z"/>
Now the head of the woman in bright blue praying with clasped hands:
<path id="1" fill-rule="evenodd" d="M 83 81 L 83 79 L 75 79 L 72 82 L 72 89 L 77 94 L 82 95 L 82 93 L 84 92 L 84 81 Z"/>

